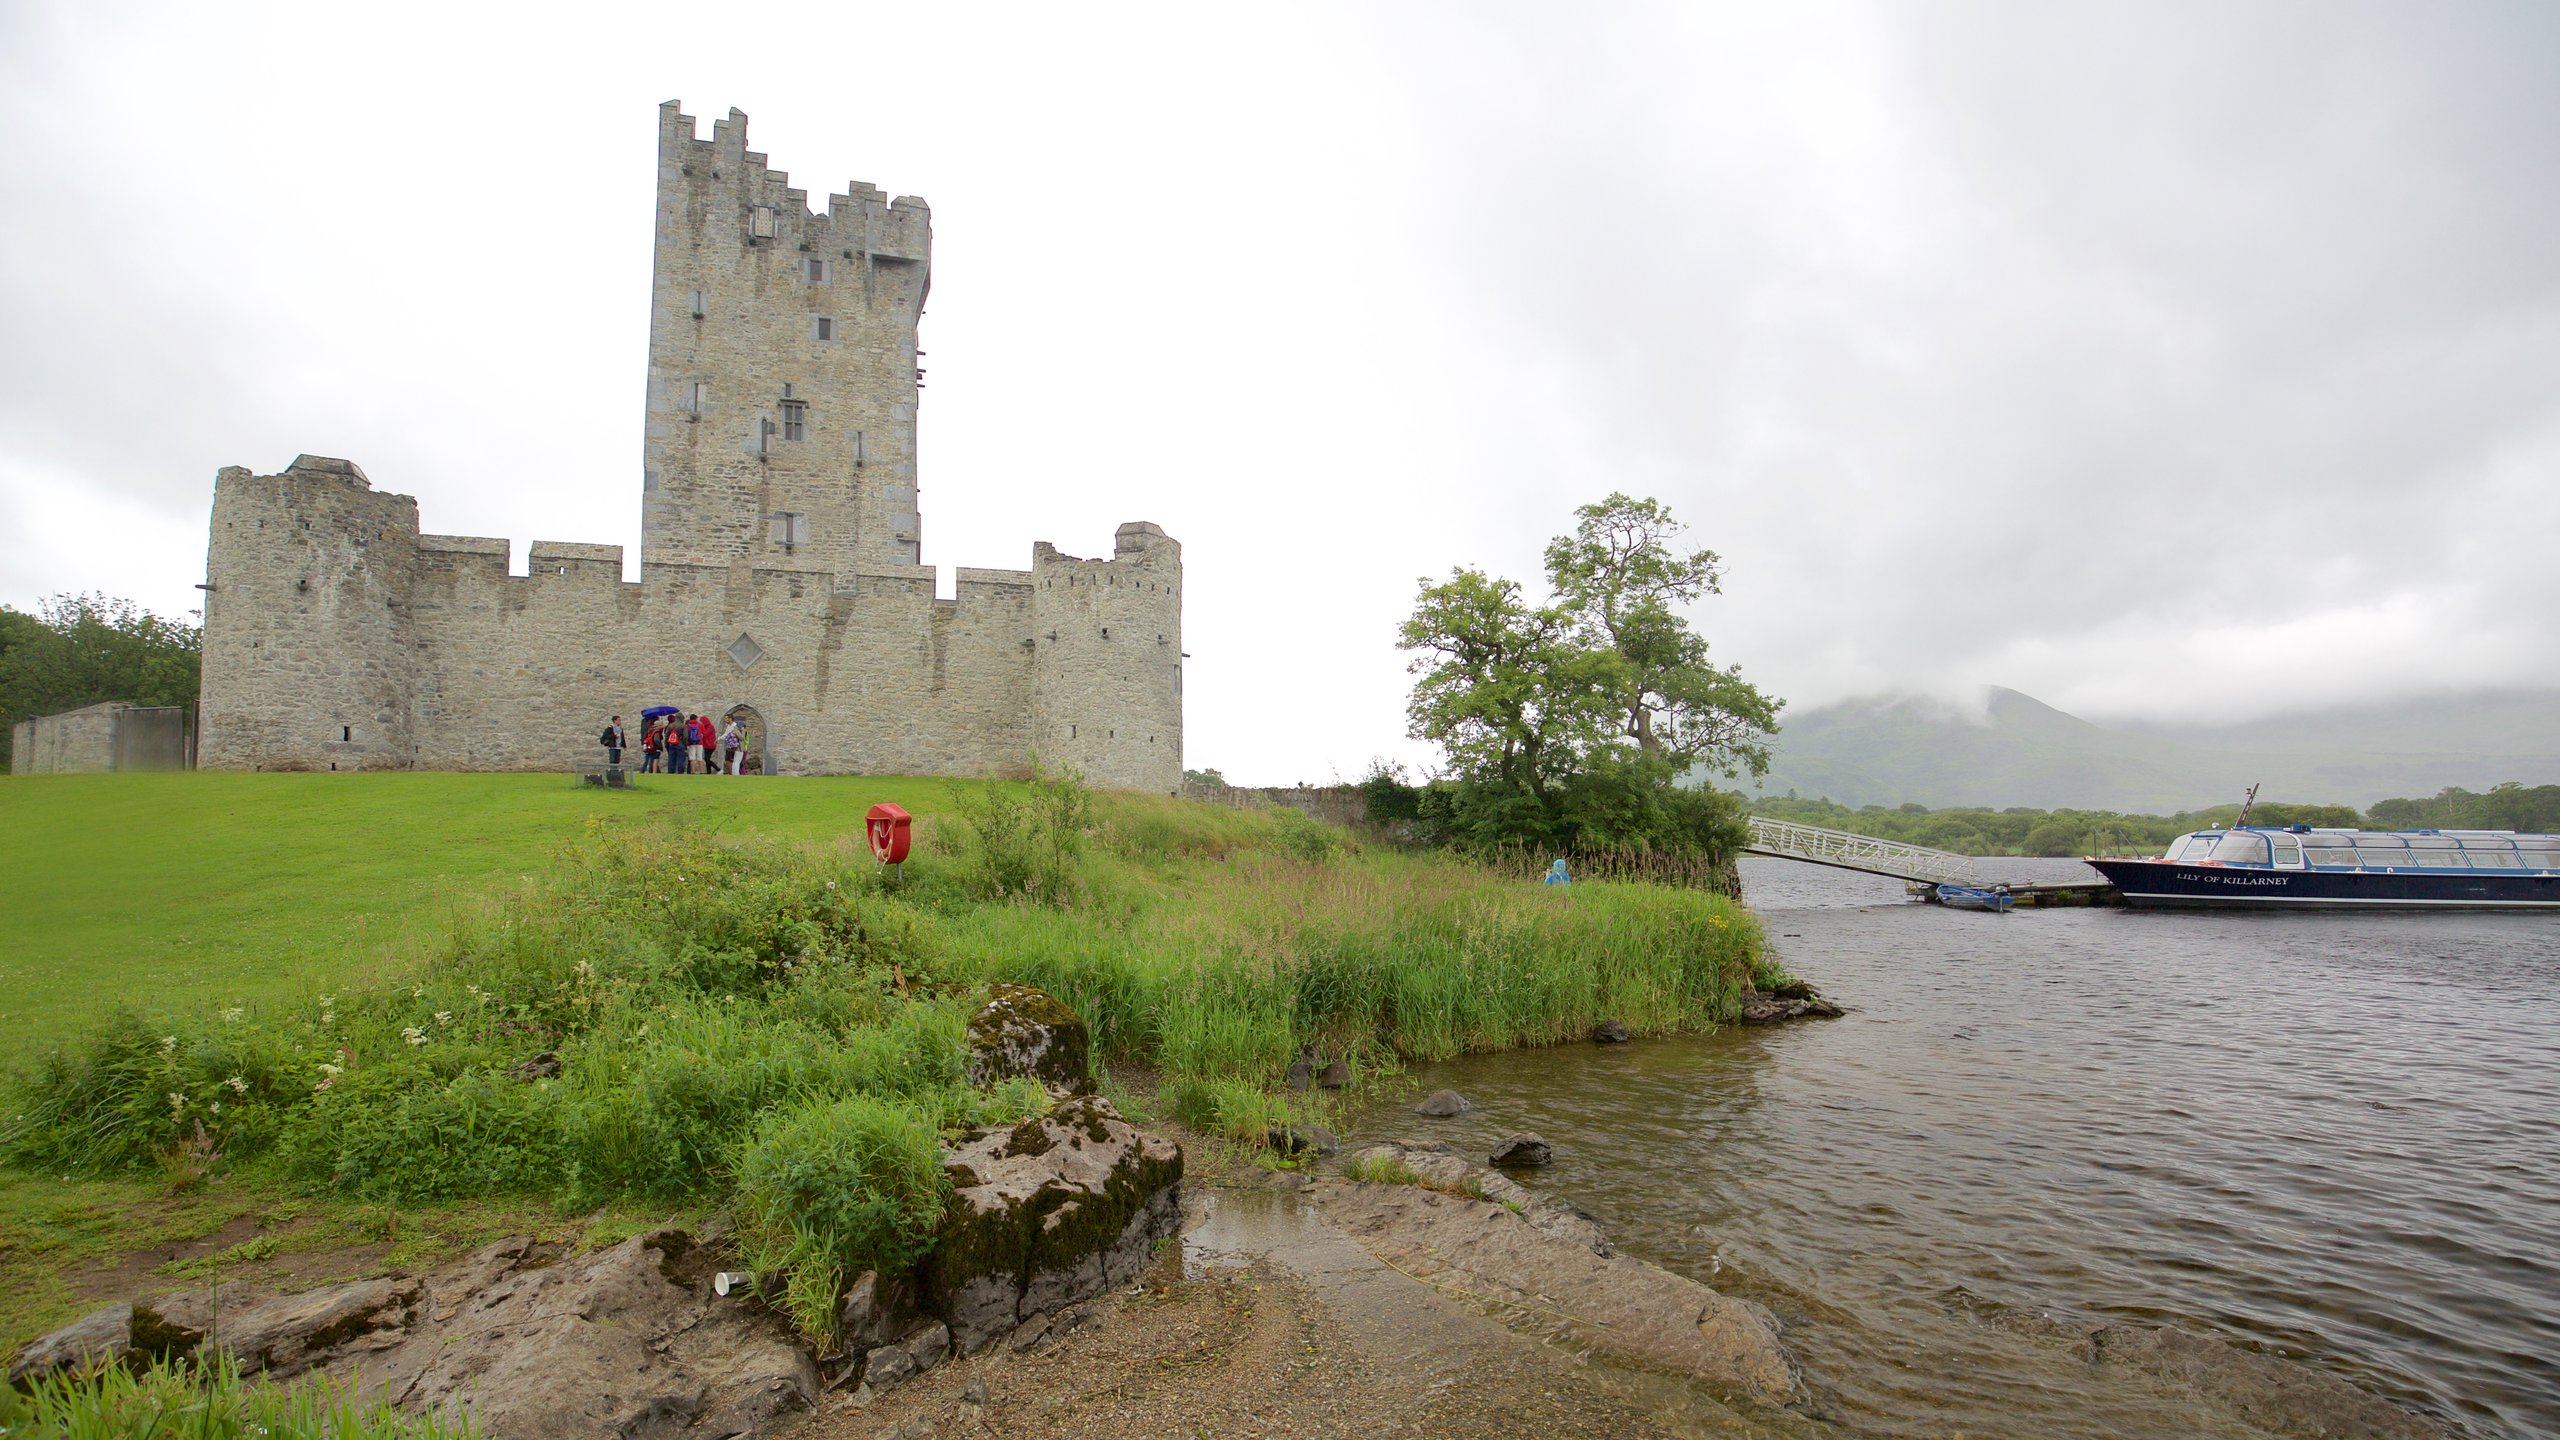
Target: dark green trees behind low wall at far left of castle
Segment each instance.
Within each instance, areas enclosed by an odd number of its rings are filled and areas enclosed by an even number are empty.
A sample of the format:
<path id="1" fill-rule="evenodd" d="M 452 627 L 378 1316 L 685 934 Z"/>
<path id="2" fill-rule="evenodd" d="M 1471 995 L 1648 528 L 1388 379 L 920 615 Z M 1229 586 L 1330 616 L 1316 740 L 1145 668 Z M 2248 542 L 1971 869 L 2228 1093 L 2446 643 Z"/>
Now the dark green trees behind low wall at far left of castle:
<path id="1" fill-rule="evenodd" d="M 36 612 L 0 607 L 0 720 L 102 700 L 195 705 L 205 633 L 105 594 L 56 594 Z M 0 728 L 0 766 L 8 730 Z"/>

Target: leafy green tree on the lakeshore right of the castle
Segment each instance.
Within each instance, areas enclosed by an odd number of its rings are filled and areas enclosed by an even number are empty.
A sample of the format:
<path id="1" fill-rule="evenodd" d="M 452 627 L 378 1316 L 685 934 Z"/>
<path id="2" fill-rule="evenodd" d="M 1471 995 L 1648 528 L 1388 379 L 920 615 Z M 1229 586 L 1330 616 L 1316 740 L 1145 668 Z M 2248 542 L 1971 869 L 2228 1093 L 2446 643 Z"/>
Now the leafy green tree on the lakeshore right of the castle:
<path id="1" fill-rule="evenodd" d="M 1677 781 L 1764 774 L 1779 702 L 1710 664 L 1677 610 L 1715 592 L 1715 553 L 1679 553 L 1654 500 L 1574 518 L 1546 548 L 1544 605 L 1480 569 L 1421 582 L 1398 633 L 1418 676 L 1405 717 L 1449 756 L 1423 822 L 1475 843 L 1728 848 L 1733 807 Z"/>

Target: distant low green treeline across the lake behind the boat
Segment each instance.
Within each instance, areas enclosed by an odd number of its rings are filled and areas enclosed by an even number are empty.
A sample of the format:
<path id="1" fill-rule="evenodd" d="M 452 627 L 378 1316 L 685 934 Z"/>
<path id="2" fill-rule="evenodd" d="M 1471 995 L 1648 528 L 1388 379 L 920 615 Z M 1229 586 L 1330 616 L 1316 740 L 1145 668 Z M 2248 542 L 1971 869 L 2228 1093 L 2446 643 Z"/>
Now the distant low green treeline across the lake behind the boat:
<path id="1" fill-rule="evenodd" d="M 1754 815 L 1856 830 L 1884 840 L 1933 846 L 1961 856 L 2107 856 L 2158 851 L 2168 840 L 2230 825 L 2237 805 L 2181 815 L 2115 815 L 2109 810 L 1930 810 L 1925 805 L 1833 805 L 1830 799 L 1756 797 Z M 2373 830 L 2542 830 L 2560 833 L 2560 784 L 2501 784 L 2488 794 L 2447 789 L 2432 799 L 2353 805 L 2258 802 L 2250 825 L 2363 825 Z"/>

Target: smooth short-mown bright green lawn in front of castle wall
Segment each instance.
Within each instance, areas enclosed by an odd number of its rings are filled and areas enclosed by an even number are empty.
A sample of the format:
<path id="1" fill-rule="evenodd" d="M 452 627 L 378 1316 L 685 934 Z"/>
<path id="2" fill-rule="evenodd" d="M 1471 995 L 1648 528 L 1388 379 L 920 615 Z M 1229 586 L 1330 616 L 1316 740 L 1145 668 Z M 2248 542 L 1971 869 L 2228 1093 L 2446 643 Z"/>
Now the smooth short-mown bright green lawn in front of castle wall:
<path id="1" fill-rule="evenodd" d="M 343 984 L 540 871 L 599 817 L 689 812 L 719 833 L 860 838 L 940 779 L 545 774 L 0 776 L 0 1053 L 115 1004 L 187 1010 Z"/>

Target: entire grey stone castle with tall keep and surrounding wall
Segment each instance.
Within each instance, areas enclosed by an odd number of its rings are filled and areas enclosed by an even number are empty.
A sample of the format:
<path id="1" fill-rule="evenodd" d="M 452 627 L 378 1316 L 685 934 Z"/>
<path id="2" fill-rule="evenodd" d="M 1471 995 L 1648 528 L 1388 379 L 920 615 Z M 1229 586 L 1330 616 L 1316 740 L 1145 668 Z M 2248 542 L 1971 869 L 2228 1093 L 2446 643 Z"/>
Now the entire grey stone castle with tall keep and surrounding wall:
<path id="1" fill-rule="evenodd" d="M 640 582 L 622 546 L 425 536 L 348 461 L 225 466 L 205 556 L 205 769 L 573 769 L 640 707 L 737 715 L 765 774 L 1183 781 L 1183 546 L 919 564 L 916 318 L 932 215 L 827 213 L 658 110 Z M 635 758 L 635 756 L 632 756 Z"/>

